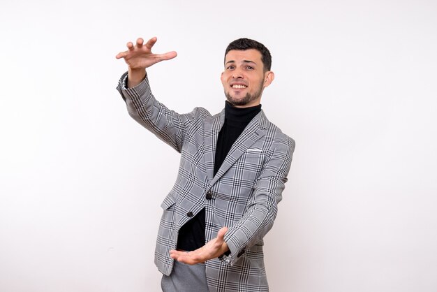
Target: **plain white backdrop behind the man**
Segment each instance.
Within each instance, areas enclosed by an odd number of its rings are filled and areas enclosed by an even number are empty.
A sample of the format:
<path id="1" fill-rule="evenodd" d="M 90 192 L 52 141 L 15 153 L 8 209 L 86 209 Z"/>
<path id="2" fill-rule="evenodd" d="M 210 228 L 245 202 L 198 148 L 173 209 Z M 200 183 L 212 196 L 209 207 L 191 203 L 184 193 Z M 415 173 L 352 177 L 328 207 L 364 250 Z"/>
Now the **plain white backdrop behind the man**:
<path id="1" fill-rule="evenodd" d="M 436 1 L 0 3 L 0 291 L 160 291 L 179 156 L 115 90 L 127 41 L 177 112 L 223 108 L 226 45 L 255 38 L 262 108 L 296 140 L 265 239 L 271 291 L 437 291 Z"/>

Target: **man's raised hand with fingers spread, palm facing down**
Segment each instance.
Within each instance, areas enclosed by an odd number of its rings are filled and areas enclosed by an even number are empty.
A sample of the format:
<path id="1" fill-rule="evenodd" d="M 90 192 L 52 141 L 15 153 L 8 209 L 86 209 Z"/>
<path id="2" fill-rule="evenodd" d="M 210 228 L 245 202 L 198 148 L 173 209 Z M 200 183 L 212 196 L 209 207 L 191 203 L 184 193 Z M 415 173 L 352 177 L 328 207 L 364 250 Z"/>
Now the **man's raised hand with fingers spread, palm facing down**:
<path id="1" fill-rule="evenodd" d="M 165 54 L 153 54 L 151 48 L 156 43 L 156 37 L 149 39 L 144 44 L 142 38 L 137 39 L 137 43 L 133 45 L 128 42 L 127 51 L 119 52 L 117 59 L 123 58 L 128 64 L 128 87 L 134 87 L 146 77 L 146 68 L 160 61 L 170 60 L 177 56 L 176 52 L 166 52 Z"/>

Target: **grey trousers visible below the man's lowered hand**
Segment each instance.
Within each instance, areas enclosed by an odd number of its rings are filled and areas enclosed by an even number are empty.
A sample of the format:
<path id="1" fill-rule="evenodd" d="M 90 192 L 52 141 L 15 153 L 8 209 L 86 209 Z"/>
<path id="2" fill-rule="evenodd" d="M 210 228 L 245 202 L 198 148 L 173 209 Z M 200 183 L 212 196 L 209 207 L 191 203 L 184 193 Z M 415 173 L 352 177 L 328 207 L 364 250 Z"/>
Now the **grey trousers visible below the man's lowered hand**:
<path id="1" fill-rule="evenodd" d="M 163 292 L 209 292 L 205 263 L 186 265 L 175 261 L 170 276 L 161 279 Z"/>

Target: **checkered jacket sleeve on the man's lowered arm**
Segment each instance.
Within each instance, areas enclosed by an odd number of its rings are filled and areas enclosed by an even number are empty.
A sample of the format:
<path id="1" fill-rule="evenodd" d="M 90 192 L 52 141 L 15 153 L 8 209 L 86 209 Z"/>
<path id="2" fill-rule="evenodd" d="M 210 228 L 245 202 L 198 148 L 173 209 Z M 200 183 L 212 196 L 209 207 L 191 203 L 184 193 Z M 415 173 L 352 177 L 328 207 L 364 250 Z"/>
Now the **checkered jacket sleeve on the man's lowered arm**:
<path id="1" fill-rule="evenodd" d="M 224 263 L 233 265 L 246 249 L 260 242 L 272 228 L 294 149 L 295 141 L 287 136 L 285 142 L 277 145 L 262 167 L 242 219 L 230 226 L 225 234 L 230 254 L 219 257 Z"/>

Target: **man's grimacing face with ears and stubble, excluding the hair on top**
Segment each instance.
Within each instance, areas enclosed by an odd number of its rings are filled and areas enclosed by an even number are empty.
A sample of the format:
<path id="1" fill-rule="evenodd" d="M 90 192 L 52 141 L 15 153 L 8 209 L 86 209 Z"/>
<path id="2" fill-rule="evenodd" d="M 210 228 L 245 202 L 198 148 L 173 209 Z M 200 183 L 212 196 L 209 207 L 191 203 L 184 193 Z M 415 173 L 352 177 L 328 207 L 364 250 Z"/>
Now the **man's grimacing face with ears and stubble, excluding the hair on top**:
<path id="1" fill-rule="evenodd" d="M 221 83 L 228 101 L 238 108 L 259 105 L 262 90 L 273 78 L 272 71 L 264 72 L 258 50 L 230 50 L 225 56 Z"/>

